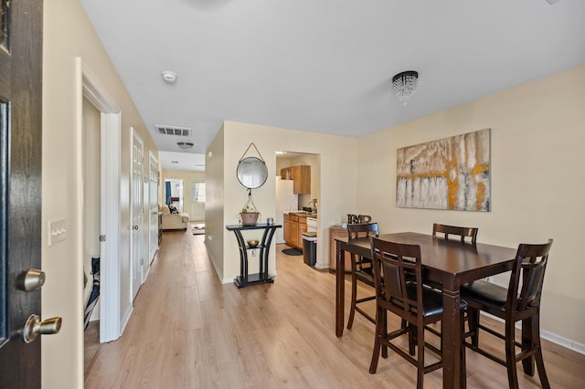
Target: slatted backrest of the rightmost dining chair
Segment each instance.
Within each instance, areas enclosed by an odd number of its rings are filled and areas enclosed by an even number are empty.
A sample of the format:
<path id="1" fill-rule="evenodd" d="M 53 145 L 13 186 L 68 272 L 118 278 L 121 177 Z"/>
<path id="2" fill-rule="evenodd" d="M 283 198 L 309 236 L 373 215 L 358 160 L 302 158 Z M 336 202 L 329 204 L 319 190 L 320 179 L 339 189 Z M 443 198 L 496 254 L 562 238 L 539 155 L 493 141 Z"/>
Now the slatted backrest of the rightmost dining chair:
<path id="1" fill-rule="evenodd" d="M 520 312 L 540 305 L 551 246 L 552 239 L 548 239 L 546 244 L 518 246 L 508 287 L 508 300 L 513 301 L 512 307 L 516 307 L 516 311 Z"/>

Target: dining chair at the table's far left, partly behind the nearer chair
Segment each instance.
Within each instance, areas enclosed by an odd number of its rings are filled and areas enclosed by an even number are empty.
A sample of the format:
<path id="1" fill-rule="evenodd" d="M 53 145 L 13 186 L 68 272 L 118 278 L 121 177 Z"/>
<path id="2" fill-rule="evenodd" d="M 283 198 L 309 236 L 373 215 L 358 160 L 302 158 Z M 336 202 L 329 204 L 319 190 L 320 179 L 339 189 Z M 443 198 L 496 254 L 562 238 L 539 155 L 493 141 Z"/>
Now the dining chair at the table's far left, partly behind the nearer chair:
<path id="1" fill-rule="evenodd" d="M 365 223 L 365 224 L 354 224 L 347 225 L 348 243 L 360 237 L 368 237 L 374 235 L 378 237 L 378 223 Z M 372 261 L 368 258 L 363 258 L 356 254 L 352 254 L 351 258 L 351 306 L 349 308 L 349 320 L 347 321 L 347 330 L 351 330 L 354 324 L 354 316 L 356 311 L 364 315 L 364 317 L 373 323 L 376 323 L 376 319 L 367 313 L 366 310 L 362 310 L 357 304 L 362 302 L 371 301 L 376 299 L 376 295 L 369 295 L 357 299 L 357 281 L 361 281 L 366 285 L 374 288 L 374 275 L 372 273 Z"/>

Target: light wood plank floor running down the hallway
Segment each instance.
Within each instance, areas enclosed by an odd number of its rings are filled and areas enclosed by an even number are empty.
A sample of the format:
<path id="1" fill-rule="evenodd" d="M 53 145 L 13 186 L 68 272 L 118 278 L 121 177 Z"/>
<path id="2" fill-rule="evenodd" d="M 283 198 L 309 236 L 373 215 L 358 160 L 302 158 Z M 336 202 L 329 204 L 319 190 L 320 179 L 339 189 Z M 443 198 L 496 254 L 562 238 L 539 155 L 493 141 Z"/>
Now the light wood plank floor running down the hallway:
<path id="1" fill-rule="evenodd" d="M 203 242 L 189 229 L 165 232 L 132 318 L 121 339 L 101 345 L 87 388 L 416 386 L 415 368 L 391 351 L 380 358 L 378 373 L 368 373 L 374 326 L 361 315 L 353 331 L 335 337 L 333 274 L 279 253 L 273 284 L 237 289 L 220 284 Z M 582 387 L 585 356 L 549 342 L 544 347 L 550 384 Z M 429 373 L 424 386 L 440 388 L 441 379 L 441 370 Z M 521 367 L 519 384 L 540 386 Z M 467 385 L 507 387 L 505 369 L 468 351 Z"/>

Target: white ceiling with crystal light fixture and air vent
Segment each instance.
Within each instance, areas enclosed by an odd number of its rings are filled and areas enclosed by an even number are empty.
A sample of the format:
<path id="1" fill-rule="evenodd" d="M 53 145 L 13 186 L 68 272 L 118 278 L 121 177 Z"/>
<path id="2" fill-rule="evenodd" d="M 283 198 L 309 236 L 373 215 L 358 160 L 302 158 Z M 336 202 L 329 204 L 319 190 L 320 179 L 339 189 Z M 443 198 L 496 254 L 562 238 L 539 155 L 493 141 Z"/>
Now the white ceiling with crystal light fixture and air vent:
<path id="1" fill-rule="evenodd" d="M 358 137 L 585 64 L 583 0 L 80 1 L 165 161 L 224 120 Z"/>

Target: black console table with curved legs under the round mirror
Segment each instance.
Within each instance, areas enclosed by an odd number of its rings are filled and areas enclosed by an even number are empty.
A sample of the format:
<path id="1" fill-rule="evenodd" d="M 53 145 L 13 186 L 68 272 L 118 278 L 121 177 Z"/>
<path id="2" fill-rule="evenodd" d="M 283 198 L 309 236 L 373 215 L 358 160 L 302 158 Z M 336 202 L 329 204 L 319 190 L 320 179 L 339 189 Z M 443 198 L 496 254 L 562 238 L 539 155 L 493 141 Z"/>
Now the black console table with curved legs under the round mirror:
<path id="1" fill-rule="evenodd" d="M 271 241 L 276 232 L 276 228 L 281 228 L 280 225 L 257 224 L 256 226 L 241 226 L 232 225 L 226 226 L 228 231 L 233 231 L 238 239 L 239 247 L 239 276 L 234 279 L 234 283 L 238 288 L 244 288 L 249 285 L 271 283 L 274 279 L 268 275 L 268 254 L 271 249 Z M 261 229 L 264 230 L 260 243 L 256 247 L 249 247 L 241 235 L 241 231 Z M 248 250 L 260 250 L 259 258 L 259 272 L 256 274 L 248 274 Z"/>

